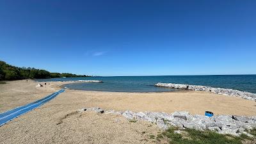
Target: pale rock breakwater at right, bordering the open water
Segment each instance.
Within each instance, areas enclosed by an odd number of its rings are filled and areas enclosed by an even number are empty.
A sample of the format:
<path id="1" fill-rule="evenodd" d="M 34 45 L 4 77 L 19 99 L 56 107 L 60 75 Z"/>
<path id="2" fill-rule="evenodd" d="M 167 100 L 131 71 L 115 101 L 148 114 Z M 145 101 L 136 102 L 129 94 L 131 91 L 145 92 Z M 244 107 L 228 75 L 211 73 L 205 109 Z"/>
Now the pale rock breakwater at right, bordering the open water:
<path id="1" fill-rule="evenodd" d="M 248 100 L 256 100 L 256 93 L 241 92 L 239 90 L 232 90 L 226 88 L 212 88 L 211 86 L 198 86 L 198 85 L 189 85 L 189 84 L 173 84 L 173 83 L 157 83 L 155 86 L 165 87 L 165 88 L 177 88 L 184 90 L 193 90 L 193 91 L 204 91 L 216 93 L 219 95 L 229 95 L 234 97 L 241 97 Z"/>

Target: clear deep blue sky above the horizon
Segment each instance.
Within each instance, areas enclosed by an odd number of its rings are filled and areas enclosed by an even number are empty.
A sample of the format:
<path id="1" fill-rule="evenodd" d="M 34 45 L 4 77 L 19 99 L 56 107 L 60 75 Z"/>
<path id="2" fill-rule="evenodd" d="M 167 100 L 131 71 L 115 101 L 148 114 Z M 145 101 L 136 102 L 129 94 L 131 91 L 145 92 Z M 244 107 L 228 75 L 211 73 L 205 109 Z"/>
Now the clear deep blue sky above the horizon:
<path id="1" fill-rule="evenodd" d="M 256 74 L 256 1 L 0 1 L 0 60 L 97 76 Z"/>

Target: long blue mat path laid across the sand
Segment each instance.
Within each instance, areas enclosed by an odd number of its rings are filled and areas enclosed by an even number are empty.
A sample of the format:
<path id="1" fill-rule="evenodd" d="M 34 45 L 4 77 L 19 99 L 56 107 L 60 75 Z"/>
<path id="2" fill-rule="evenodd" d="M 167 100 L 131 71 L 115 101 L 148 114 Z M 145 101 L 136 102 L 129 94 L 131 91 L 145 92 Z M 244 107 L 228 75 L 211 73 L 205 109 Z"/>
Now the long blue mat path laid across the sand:
<path id="1" fill-rule="evenodd" d="M 4 113 L 0 113 L 0 126 L 6 124 L 7 122 L 10 122 L 11 120 L 19 117 L 20 115 L 23 115 L 24 113 L 28 113 L 29 111 L 38 108 L 39 106 L 42 106 L 42 104 L 45 104 L 46 102 L 53 99 L 58 94 L 64 91 L 65 90 L 59 90 L 58 92 L 52 93 L 51 95 L 44 97 L 43 99 L 36 100 L 35 102 L 31 102 L 30 104 L 27 104 L 25 106 L 20 106 L 19 108 L 11 109 L 10 111 L 6 111 Z"/>

